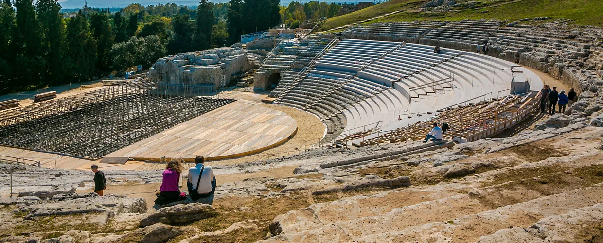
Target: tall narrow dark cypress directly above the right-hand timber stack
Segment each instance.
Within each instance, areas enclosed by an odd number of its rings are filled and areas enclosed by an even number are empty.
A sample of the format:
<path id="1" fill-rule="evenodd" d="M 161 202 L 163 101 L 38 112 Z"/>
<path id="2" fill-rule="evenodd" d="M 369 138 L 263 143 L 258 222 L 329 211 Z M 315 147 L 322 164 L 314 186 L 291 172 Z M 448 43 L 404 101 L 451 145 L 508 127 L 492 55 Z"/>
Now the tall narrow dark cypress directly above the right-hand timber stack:
<path id="1" fill-rule="evenodd" d="M 63 81 L 63 46 L 65 43 L 65 25 L 61 5 L 57 0 L 38 0 L 37 16 L 42 30 L 42 52 L 46 62 L 46 75 L 52 84 Z"/>

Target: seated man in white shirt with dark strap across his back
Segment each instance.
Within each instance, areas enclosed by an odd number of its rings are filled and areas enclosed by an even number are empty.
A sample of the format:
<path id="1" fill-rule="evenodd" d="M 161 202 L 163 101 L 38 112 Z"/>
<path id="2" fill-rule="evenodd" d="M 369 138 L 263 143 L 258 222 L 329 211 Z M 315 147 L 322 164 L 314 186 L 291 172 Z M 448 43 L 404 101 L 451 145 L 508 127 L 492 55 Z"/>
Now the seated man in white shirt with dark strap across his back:
<path id="1" fill-rule="evenodd" d="M 212 166 L 204 165 L 204 160 L 203 156 L 197 156 L 195 158 L 197 165 L 192 166 L 188 171 L 186 186 L 193 201 L 209 197 L 216 191 L 216 177 Z"/>

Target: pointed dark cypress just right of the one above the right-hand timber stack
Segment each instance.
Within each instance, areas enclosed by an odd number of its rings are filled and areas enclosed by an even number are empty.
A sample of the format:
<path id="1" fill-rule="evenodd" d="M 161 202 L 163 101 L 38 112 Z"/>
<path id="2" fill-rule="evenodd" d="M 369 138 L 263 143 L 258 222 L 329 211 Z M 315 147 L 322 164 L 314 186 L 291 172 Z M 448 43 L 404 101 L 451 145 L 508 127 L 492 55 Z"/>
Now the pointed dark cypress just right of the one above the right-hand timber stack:
<path id="1" fill-rule="evenodd" d="M 89 80 L 95 71 L 96 41 L 81 10 L 67 25 L 66 42 L 70 64 L 68 75 Z"/>

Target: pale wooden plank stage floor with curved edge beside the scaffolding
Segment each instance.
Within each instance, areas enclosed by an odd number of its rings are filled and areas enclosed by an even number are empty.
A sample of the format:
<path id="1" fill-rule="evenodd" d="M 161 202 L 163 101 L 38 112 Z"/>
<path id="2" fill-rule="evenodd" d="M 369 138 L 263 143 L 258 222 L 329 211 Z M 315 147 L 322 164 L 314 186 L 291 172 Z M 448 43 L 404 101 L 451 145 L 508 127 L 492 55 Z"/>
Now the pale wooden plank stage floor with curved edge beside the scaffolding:
<path id="1" fill-rule="evenodd" d="M 297 122 L 286 113 L 239 99 L 106 157 L 229 159 L 276 147 L 296 131 Z"/>

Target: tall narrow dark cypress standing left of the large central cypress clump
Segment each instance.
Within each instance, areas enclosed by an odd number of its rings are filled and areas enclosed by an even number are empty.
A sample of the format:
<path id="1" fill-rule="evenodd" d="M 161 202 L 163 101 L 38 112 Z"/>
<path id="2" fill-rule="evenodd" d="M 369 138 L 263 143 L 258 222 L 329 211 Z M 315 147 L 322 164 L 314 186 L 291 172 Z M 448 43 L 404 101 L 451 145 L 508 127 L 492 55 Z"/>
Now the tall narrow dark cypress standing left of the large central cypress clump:
<path id="1" fill-rule="evenodd" d="M 198 49 L 209 48 L 209 42 L 212 40 L 212 28 L 216 22 L 213 16 L 213 4 L 209 0 L 201 0 L 197 7 L 197 28 L 195 29 L 195 43 Z"/>

